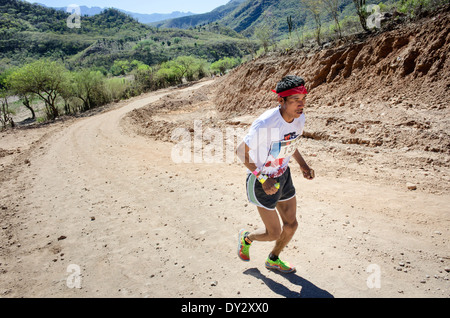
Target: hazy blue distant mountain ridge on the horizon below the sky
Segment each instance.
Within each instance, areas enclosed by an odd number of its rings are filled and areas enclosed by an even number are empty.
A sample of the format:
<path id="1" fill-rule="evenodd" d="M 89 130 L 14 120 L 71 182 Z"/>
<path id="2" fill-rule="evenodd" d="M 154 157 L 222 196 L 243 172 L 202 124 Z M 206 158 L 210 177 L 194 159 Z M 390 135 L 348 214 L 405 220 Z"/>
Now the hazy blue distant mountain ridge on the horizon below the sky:
<path id="1" fill-rule="evenodd" d="M 38 3 L 39 5 L 43 7 L 47 7 L 45 4 Z M 67 11 L 67 7 L 51 7 L 55 10 L 60 11 Z M 104 11 L 107 8 L 100 8 L 100 7 L 88 7 L 88 6 L 80 6 L 81 15 L 87 15 L 87 16 L 94 16 L 96 14 L 100 14 L 102 11 Z M 123 13 L 128 14 L 129 16 L 133 17 L 137 21 L 141 23 L 154 23 L 158 21 L 168 20 L 168 19 L 175 19 L 175 18 L 181 18 L 186 16 L 195 15 L 195 13 L 192 12 L 180 12 L 180 11 L 174 11 L 172 13 L 151 13 L 151 14 L 145 14 L 145 13 L 136 13 L 131 11 L 126 11 L 122 9 L 117 9 Z"/>

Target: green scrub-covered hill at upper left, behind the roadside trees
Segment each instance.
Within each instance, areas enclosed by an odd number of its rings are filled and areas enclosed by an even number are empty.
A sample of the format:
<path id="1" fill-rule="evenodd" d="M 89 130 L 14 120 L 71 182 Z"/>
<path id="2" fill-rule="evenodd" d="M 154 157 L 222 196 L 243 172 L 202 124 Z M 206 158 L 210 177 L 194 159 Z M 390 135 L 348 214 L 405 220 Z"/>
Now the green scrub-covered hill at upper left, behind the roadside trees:
<path id="1" fill-rule="evenodd" d="M 108 69 L 115 59 L 154 65 L 192 54 L 214 62 L 256 49 L 223 27 L 158 30 L 115 9 L 82 17 L 80 28 L 67 26 L 66 12 L 19 0 L 3 1 L 0 13 L 0 71 L 42 57 L 63 60 L 70 68 Z"/>

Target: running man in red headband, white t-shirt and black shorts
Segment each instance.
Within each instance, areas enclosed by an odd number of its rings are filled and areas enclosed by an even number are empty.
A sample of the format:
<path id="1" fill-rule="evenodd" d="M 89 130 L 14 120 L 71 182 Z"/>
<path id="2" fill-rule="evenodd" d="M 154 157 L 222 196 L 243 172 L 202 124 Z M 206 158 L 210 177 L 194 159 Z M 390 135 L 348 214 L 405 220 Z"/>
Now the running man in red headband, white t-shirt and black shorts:
<path id="1" fill-rule="evenodd" d="M 305 81 L 298 76 L 284 77 L 273 92 L 278 94 L 280 105 L 266 111 L 252 124 L 237 150 L 248 168 L 248 199 L 257 206 L 265 225 L 265 229 L 254 232 L 239 232 L 238 255 L 243 261 L 249 261 L 252 242 L 276 241 L 265 266 L 291 273 L 295 268 L 279 258 L 298 227 L 296 192 L 288 166 L 290 158 L 294 157 L 306 179 L 314 179 L 314 170 L 297 150 L 305 125 L 303 109 L 308 92 Z"/>

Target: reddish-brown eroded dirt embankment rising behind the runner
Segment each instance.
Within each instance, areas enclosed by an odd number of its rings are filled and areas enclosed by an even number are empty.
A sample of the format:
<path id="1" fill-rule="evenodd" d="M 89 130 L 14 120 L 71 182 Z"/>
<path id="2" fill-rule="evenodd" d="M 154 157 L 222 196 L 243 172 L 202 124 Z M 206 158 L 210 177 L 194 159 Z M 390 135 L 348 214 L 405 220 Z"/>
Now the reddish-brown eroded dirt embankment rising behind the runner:
<path id="1" fill-rule="evenodd" d="M 217 108 L 271 107 L 277 81 L 300 75 L 311 91 L 307 137 L 448 154 L 449 31 L 443 12 L 364 41 L 251 61 L 221 83 Z"/>

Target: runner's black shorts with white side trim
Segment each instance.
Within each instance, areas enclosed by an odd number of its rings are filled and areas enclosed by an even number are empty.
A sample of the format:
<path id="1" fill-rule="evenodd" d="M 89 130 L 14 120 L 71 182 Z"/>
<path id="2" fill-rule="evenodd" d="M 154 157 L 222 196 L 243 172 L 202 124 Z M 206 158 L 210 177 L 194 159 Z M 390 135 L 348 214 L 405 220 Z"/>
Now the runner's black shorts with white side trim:
<path id="1" fill-rule="evenodd" d="M 275 178 L 275 180 L 280 183 L 280 189 L 274 195 L 268 195 L 264 192 L 262 184 L 258 179 L 250 173 L 247 176 L 247 197 L 250 203 L 267 210 L 275 210 L 278 202 L 288 201 L 295 197 L 296 192 L 289 167 L 279 178 Z"/>

